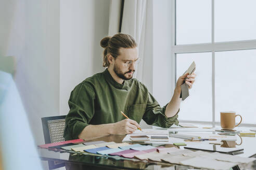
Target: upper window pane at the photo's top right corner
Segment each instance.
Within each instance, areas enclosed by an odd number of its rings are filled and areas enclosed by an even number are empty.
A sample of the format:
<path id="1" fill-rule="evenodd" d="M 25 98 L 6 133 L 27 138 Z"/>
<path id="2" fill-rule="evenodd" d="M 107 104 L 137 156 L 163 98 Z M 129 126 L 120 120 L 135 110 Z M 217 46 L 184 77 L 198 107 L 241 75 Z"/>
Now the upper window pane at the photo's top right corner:
<path id="1" fill-rule="evenodd" d="M 255 0 L 215 0 L 215 41 L 256 39 Z"/>

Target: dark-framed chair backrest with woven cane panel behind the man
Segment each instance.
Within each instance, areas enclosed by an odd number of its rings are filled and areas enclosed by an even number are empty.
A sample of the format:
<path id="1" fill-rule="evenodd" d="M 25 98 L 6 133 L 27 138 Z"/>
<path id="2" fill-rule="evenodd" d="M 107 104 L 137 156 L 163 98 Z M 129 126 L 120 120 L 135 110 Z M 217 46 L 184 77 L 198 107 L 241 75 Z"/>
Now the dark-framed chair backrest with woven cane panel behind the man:
<path id="1" fill-rule="evenodd" d="M 42 118 L 45 144 L 65 140 L 63 138 L 65 119 L 65 115 Z"/>

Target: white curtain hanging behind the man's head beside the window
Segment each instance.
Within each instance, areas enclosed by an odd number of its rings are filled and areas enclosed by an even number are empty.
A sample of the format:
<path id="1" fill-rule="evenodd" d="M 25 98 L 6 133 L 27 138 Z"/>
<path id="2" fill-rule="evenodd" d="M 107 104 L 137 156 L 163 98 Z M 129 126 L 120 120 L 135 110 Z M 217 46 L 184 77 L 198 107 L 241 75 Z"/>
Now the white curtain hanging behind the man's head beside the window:
<path id="1" fill-rule="evenodd" d="M 119 32 L 122 1 L 110 4 L 109 35 Z M 133 36 L 138 44 L 138 55 L 142 59 L 134 77 L 142 81 L 152 92 L 152 0 L 125 0 L 121 33 Z"/>

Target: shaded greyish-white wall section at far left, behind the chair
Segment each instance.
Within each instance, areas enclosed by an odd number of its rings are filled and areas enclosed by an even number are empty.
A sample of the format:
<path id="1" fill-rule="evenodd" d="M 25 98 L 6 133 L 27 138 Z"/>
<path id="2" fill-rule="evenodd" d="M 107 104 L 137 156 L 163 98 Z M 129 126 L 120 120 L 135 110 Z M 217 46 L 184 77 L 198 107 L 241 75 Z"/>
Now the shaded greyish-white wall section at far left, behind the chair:
<path id="1" fill-rule="evenodd" d="M 59 112 L 59 1 L 1 3 L 11 23 L 3 56 L 17 60 L 15 82 L 36 144 L 43 144 L 41 117 Z"/>

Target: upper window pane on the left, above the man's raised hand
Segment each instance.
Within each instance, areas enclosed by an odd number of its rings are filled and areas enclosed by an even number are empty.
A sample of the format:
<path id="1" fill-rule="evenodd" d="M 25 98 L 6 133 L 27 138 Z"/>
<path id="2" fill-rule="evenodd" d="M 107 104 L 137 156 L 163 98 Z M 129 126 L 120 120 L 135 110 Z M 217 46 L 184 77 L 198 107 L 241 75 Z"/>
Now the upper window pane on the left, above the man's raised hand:
<path id="1" fill-rule="evenodd" d="M 176 44 L 211 42 L 211 1 L 176 0 Z"/>

